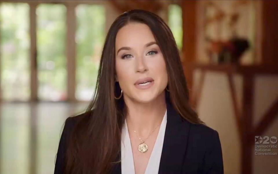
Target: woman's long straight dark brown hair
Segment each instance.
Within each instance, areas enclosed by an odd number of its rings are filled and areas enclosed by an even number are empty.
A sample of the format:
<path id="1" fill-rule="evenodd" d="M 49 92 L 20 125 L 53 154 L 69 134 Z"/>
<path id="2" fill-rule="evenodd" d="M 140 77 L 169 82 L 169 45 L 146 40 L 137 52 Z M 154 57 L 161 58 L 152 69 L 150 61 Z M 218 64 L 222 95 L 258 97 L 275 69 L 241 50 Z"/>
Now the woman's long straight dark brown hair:
<path id="1" fill-rule="evenodd" d="M 65 173 L 109 173 L 120 152 L 121 130 L 127 107 L 115 83 L 115 40 L 120 28 L 130 22 L 144 23 L 151 29 L 165 59 L 168 86 L 166 92 L 175 110 L 193 124 L 202 124 L 197 113 L 189 105 L 189 93 L 173 34 L 156 14 L 145 10 L 122 13 L 111 25 L 105 39 L 100 59 L 96 92 L 84 117 L 72 131 L 69 140 Z"/>

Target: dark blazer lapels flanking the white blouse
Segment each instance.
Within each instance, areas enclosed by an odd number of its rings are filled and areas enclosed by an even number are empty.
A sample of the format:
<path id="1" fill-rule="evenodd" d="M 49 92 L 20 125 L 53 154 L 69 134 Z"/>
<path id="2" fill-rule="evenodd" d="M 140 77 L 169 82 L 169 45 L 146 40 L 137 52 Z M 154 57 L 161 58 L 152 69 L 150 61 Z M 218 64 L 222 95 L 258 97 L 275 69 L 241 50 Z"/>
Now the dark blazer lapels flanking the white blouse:
<path id="1" fill-rule="evenodd" d="M 158 173 L 180 173 L 186 151 L 189 123 L 180 117 L 168 100 L 166 104 L 167 124 Z M 121 160 L 121 151 L 117 160 Z M 121 174 L 121 170 L 121 163 L 118 163 L 111 173 Z"/>

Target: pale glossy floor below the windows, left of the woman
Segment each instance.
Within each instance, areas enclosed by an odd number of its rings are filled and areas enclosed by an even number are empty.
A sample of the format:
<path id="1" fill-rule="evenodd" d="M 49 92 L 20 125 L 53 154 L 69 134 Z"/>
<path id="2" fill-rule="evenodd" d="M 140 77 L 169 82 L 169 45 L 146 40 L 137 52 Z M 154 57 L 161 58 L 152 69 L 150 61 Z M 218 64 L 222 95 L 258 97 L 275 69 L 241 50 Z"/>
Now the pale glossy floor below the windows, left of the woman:
<path id="1" fill-rule="evenodd" d="M 88 103 L 0 104 L 0 173 L 54 173 L 65 119 Z"/>

